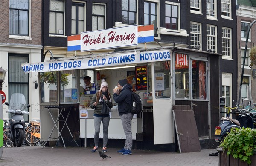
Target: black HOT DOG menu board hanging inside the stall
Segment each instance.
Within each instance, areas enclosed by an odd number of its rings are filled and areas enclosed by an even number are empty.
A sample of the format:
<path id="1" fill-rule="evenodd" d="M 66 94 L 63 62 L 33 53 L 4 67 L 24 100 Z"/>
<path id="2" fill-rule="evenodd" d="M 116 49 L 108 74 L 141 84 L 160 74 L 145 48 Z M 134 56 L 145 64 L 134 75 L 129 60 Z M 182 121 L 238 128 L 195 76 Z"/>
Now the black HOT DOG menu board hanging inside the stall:
<path id="1" fill-rule="evenodd" d="M 136 89 L 147 90 L 147 66 L 135 67 L 136 72 Z"/>

